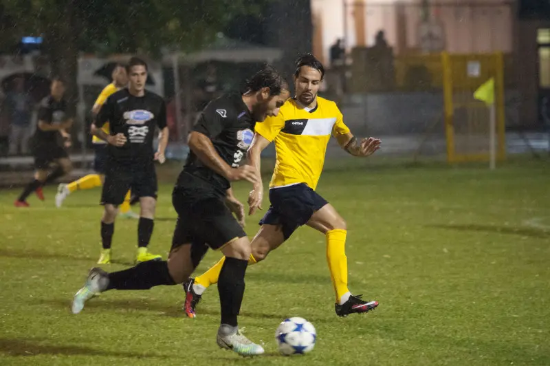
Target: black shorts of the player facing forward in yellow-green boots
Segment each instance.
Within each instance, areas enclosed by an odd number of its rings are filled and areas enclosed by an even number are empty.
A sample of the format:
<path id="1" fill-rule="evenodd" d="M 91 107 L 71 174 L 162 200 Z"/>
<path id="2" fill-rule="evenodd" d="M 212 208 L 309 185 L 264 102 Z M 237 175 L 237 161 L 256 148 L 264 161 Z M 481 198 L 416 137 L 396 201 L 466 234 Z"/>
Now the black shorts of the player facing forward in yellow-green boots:
<path id="1" fill-rule="evenodd" d="M 153 161 L 146 164 L 123 164 L 107 160 L 101 204 L 122 204 L 129 189 L 135 197 L 157 198 L 157 173 Z"/>

